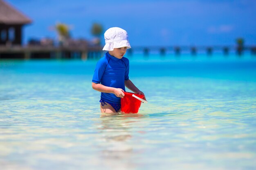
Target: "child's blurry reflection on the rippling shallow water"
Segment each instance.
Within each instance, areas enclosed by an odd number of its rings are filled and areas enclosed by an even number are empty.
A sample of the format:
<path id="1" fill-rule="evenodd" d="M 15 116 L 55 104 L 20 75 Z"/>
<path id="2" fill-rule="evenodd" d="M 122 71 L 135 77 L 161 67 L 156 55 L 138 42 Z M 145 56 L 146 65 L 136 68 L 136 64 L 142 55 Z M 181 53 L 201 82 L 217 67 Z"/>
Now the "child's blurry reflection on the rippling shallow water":
<path id="1" fill-rule="evenodd" d="M 132 114 L 135 115 L 135 114 Z M 139 117 L 139 114 L 136 114 Z M 109 169 L 135 168 L 131 161 L 135 154 L 132 144 L 132 131 L 130 124 L 133 121 L 127 119 L 127 115 L 103 117 L 99 126 L 99 133 L 102 137 L 101 152 L 102 164 Z"/>

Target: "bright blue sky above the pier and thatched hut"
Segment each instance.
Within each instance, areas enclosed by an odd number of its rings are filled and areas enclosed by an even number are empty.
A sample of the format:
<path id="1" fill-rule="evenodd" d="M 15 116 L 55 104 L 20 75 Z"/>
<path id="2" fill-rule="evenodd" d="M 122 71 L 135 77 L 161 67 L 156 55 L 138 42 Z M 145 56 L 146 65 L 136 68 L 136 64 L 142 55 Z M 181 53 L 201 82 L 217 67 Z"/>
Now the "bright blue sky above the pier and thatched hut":
<path id="1" fill-rule="evenodd" d="M 30 38 L 54 38 L 56 22 L 72 26 L 73 38 L 92 39 L 92 23 L 118 26 L 135 46 L 256 45 L 255 0 L 5 0 L 33 20 Z"/>

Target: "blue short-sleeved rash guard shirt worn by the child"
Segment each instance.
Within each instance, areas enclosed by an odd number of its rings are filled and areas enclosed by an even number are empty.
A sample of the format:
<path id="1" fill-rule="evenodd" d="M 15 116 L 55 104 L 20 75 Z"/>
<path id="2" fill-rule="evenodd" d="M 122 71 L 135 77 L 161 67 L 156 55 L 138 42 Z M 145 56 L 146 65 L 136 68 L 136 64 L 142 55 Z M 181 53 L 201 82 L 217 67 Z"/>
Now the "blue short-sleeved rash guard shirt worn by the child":
<path id="1" fill-rule="evenodd" d="M 124 81 L 129 79 L 129 60 L 126 57 L 118 59 L 105 53 L 105 55 L 97 62 L 92 82 L 104 86 L 121 88 L 125 91 Z M 117 103 L 121 101 L 120 97 L 117 97 L 113 93 L 101 92 L 101 99 L 107 103 Z"/>

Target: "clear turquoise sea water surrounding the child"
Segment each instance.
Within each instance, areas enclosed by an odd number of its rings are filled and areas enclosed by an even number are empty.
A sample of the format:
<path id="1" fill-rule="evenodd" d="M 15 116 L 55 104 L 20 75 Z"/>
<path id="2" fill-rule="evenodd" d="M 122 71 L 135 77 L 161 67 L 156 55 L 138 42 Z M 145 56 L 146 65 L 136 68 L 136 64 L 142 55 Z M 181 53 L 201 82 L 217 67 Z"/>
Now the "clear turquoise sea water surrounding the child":
<path id="1" fill-rule="evenodd" d="M 0 169 L 256 169 L 255 56 L 128 58 L 148 104 L 110 117 L 96 60 L 0 60 Z"/>

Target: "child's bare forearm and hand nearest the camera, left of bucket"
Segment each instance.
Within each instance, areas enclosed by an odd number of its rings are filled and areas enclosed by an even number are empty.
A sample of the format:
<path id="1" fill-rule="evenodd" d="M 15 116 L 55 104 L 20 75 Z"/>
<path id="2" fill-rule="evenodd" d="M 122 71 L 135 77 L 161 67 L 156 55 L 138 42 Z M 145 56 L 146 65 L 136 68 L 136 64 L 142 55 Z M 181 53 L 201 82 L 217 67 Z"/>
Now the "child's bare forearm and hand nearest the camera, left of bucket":
<path id="1" fill-rule="evenodd" d="M 114 87 L 108 87 L 108 86 L 104 86 L 100 83 L 94 83 L 92 82 L 92 88 L 94 90 L 97 90 L 99 92 L 103 92 L 103 93 L 113 93 L 115 94 L 117 97 L 121 97 L 124 98 L 124 90 L 121 88 L 114 88 Z"/>

